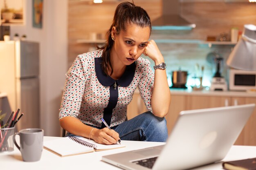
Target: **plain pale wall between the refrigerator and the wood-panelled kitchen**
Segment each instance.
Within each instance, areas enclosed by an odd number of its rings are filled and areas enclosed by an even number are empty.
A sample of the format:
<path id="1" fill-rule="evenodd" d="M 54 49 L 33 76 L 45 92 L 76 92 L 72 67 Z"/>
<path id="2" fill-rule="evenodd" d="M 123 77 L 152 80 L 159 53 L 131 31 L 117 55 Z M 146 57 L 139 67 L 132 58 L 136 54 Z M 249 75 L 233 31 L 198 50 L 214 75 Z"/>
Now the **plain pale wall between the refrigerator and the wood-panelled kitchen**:
<path id="1" fill-rule="evenodd" d="M 40 43 L 40 127 L 45 136 L 59 136 L 58 112 L 67 71 L 67 0 L 43 1 L 43 28 L 32 27 L 32 0 L 23 0 L 25 24 L 15 33 Z M 29 116 L 29 115 L 27 115 Z"/>

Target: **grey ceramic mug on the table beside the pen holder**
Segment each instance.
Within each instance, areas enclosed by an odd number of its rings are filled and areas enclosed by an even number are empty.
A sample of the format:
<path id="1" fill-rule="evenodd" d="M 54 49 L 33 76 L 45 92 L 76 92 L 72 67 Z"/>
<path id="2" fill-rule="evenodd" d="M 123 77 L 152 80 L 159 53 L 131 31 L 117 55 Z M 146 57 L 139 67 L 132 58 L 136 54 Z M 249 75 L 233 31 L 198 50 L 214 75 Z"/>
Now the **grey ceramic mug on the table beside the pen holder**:
<path id="1" fill-rule="evenodd" d="M 16 135 L 20 136 L 20 146 L 16 143 Z M 13 142 L 20 150 L 23 161 L 39 161 L 43 151 L 43 129 L 22 129 L 13 135 Z"/>

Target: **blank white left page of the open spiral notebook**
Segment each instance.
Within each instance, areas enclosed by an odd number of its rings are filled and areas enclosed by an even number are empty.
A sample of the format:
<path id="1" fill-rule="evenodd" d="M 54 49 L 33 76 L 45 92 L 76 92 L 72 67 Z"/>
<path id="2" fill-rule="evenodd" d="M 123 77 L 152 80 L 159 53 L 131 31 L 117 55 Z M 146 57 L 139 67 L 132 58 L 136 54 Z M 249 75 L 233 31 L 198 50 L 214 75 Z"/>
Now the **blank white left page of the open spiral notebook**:
<path id="1" fill-rule="evenodd" d="M 68 137 L 63 137 L 61 139 L 55 139 L 52 141 L 45 141 L 44 147 L 56 152 L 61 156 L 77 155 L 94 151 L 94 148 L 83 146 L 75 141 L 72 141 Z"/>

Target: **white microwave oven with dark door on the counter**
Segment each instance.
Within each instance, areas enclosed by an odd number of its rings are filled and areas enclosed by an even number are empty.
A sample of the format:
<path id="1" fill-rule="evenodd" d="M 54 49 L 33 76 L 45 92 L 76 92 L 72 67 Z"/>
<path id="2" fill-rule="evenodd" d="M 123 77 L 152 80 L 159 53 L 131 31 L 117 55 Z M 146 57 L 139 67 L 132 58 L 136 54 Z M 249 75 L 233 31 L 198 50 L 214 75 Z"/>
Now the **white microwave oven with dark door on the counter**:
<path id="1" fill-rule="evenodd" d="M 229 90 L 246 91 L 256 89 L 256 71 L 229 70 Z"/>

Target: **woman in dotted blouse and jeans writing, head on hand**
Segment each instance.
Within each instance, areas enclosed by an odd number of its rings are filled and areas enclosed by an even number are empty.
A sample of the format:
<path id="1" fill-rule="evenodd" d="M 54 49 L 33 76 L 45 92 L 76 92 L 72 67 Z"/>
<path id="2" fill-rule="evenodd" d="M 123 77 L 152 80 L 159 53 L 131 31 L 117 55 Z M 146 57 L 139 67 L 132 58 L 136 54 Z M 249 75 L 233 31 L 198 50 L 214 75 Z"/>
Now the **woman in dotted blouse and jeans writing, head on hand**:
<path id="1" fill-rule="evenodd" d="M 67 72 L 59 113 L 63 129 L 99 144 L 166 141 L 164 116 L 171 95 L 164 57 L 156 43 L 148 41 L 150 33 L 144 9 L 130 2 L 117 6 L 106 45 L 78 55 Z M 155 75 L 142 53 L 155 62 Z M 127 105 L 137 86 L 149 111 L 127 121 Z"/>

